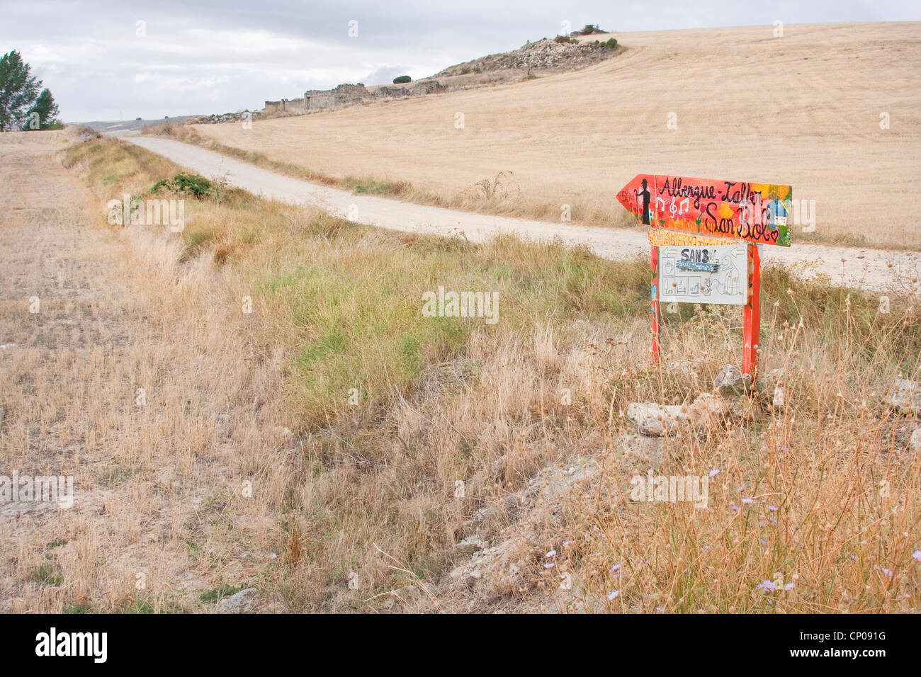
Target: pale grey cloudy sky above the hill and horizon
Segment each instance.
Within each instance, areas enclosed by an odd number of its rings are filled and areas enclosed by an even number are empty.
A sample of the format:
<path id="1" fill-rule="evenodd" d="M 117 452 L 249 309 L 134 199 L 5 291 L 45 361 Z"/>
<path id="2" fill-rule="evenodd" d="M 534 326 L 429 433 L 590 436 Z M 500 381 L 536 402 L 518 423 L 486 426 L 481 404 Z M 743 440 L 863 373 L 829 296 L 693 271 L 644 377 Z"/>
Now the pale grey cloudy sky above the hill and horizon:
<path id="1" fill-rule="evenodd" d="M 67 122 L 258 110 L 305 89 L 433 75 L 561 23 L 620 32 L 921 19 L 917 0 L 22 0 L 0 8 Z M 350 22 L 355 37 L 350 37 Z M 355 30 L 356 29 L 356 30 Z"/>

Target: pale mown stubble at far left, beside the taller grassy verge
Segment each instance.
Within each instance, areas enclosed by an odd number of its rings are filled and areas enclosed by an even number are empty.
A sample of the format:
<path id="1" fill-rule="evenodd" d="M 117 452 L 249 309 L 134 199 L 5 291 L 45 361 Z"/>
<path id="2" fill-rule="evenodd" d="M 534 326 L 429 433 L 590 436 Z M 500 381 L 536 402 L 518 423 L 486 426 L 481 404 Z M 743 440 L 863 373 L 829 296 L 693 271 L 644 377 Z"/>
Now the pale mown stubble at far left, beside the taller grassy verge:
<path id="1" fill-rule="evenodd" d="M 0 608 L 210 610 L 201 594 L 258 583 L 272 561 L 240 487 L 284 439 L 267 403 L 285 365 L 257 367 L 209 257 L 100 228 L 120 182 L 97 201 L 48 152 L 3 141 L 0 474 L 73 475 L 76 500 L 3 504 Z M 96 166 L 114 177 L 129 159 Z"/>

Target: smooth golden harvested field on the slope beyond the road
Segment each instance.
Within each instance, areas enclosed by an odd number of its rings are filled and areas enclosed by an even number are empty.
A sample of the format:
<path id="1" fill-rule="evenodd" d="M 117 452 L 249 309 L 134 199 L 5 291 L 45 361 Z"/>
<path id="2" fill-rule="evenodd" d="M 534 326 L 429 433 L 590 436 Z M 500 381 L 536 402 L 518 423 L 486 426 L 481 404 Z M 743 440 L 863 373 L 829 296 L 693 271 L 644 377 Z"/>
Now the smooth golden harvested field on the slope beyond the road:
<path id="1" fill-rule="evenodd" d="M 916 249 L 921 24 L 774 30 L 614 33 L 623 52 L 571 73 L 195 130 L 362 192 L 557 222 L 629 224 L 613 196 L 641 172 L 787 183 L 815 201 L 794 242 Z"/>

